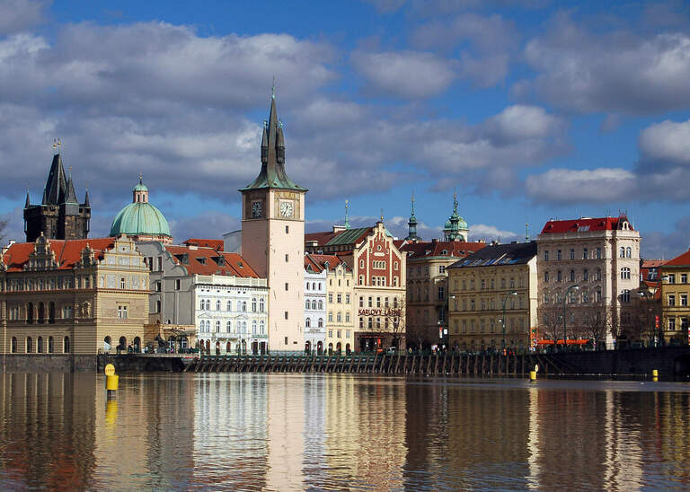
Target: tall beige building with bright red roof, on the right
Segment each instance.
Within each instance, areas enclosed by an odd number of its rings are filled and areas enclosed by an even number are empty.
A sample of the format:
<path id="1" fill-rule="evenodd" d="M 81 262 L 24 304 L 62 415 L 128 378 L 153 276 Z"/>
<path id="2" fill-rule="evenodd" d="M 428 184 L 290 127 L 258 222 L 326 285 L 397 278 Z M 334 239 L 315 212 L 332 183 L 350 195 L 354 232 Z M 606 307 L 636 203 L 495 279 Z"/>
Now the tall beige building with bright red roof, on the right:
<path id="1" fill-rule="evenodd" d="M 629 331 L 620 312 L 640 284 L 640 233 L 627 217 L 550 221 L 537 238 L 537 269 L 540 338 L 562 338 L 556 313 L 562 316 L 563 308 L 568 338 L 614 347 L 615 339 Z M 593 310 L 606 318 L 605 327 L 588 321 Z"/>

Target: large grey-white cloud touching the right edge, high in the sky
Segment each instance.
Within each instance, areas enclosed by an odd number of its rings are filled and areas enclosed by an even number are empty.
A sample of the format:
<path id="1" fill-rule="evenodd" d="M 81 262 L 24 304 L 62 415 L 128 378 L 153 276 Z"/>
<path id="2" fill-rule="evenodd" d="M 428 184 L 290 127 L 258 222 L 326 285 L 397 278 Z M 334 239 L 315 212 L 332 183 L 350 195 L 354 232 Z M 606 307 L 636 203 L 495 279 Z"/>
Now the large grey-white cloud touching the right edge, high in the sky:
<path id="1" fill-rule="evenodd" d="M 579 112 L 654 114 L 690 107 L 690 35 L 599 34 L 562 14 L 526 44 L 538 72 L 531 87 L 557 107 Z"/>

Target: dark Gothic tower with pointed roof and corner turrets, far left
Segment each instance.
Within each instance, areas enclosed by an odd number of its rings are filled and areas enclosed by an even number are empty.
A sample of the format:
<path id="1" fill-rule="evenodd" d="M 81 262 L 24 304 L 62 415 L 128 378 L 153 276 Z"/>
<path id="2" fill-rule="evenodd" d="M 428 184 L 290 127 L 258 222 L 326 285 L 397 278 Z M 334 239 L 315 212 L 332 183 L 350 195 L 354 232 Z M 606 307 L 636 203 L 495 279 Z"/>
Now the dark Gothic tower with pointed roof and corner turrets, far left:
<path id="1" fill-rule="evenodd" d="M 41 233 L 49 239 L 86 239 L 89 235 L 91 205 L 86 192 L 84 203 L 76 199 L 72 174 L 65 174 L 59 142 L 53 163 L 50 164 L 46 188 L 40 205 L 31 205 L 29 192 L 24 204 L 24 233 L 26 241 L 34 242 Z"/>

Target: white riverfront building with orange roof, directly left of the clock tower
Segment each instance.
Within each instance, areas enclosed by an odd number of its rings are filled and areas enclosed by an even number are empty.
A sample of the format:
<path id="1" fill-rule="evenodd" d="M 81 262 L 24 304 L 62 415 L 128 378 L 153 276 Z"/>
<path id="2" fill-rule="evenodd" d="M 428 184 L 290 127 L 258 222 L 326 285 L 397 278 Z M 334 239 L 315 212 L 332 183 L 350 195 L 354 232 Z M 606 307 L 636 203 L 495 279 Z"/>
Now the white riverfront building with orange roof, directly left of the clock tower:
<path id="1" fill-rule="evenodd" d="M 265 352 L 266 279 L 237 253 L 199 243 L 209 242 L 137 242 L 150 268 L 149 325 L 155 336 L 211 354 Z"/>

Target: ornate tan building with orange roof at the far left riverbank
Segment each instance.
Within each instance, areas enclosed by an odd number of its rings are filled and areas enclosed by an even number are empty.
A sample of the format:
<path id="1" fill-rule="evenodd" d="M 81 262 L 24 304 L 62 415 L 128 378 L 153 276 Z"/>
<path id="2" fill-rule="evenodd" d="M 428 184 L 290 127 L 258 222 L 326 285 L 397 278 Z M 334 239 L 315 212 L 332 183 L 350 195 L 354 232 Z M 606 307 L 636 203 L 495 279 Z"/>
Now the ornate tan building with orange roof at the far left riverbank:
<path id="1" fill-rule="evenodd" d="M 15 243 L 0 262 L 3 353 L 141 348 L 148 268 L 126 237 Z"/>

